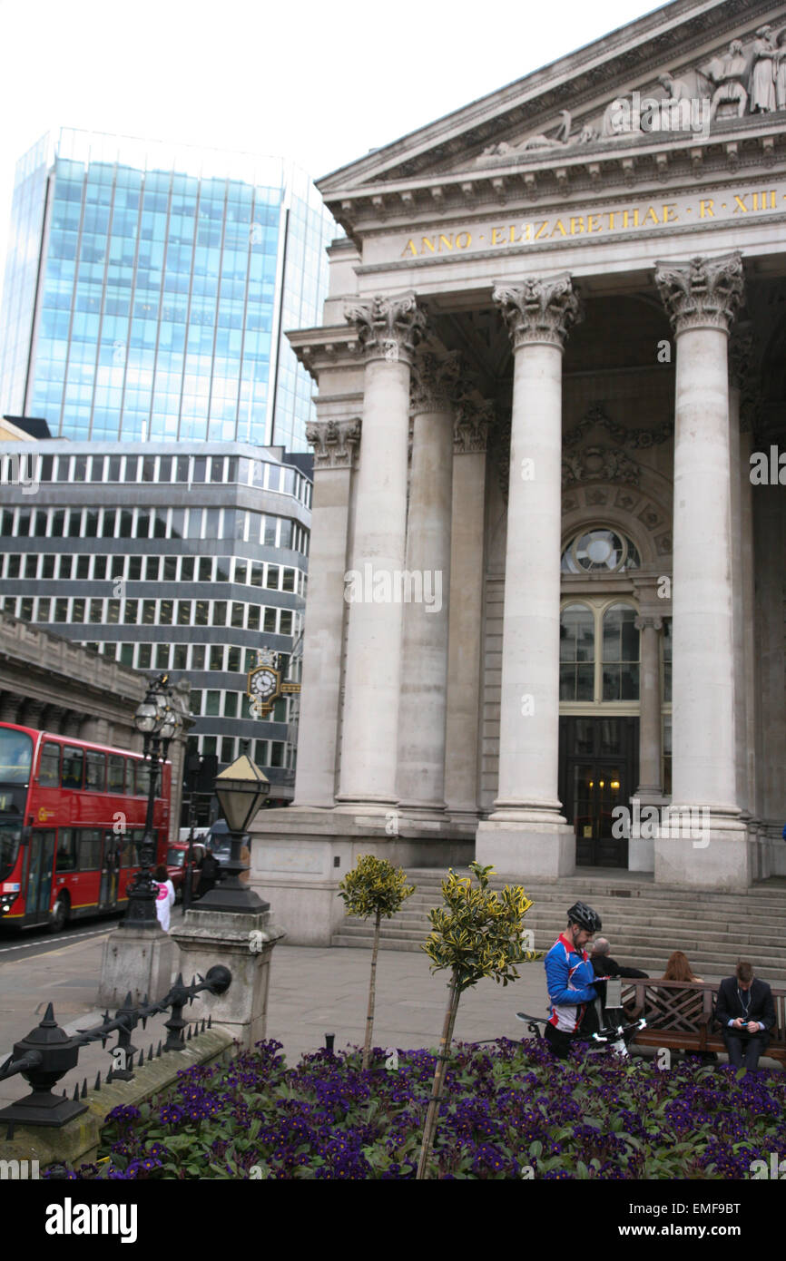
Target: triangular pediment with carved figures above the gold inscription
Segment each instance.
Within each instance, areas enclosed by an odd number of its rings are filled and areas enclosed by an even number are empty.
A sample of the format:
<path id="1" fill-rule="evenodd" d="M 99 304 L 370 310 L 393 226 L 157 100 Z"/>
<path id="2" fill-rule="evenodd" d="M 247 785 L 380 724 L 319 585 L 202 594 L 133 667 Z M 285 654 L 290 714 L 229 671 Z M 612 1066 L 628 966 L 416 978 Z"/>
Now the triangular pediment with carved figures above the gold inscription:
<path id="1" fill-rule="evenodd" d="M 363 217 L 384 218 L 424 190 L 439 204 L 454 189 L 477 193 L 477 182 L 532 189 L 539 168 L 580 166 L 597 182 L 604 163 L 632 169 L 640 153 L 666 148 L 684 149 L 689 164 L 696 144 L 729 136 L 737 159 L 739 145 L 756 145 L 762 132 L 772 160 L 772 137 L 786 135 L 786 5 L 676 0 L 318 187 L 353 235 L 361 203 Z M 659 174 L 667 161 L 659 159 Z"/>

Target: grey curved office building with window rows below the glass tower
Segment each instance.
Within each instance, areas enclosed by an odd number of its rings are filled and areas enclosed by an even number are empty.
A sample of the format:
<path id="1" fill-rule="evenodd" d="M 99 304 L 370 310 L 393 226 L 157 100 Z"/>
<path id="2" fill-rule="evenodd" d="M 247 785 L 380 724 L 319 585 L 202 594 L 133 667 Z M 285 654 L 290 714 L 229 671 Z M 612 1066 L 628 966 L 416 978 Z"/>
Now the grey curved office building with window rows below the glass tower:
<path id="1" fill-rule="evenodd" d="M 0 604 L 103 662 L 188 678 L 189 750 L 221 768 L 250 739 L 289 801 L 298 697 L 255 718 L 245 694 L 259 648 L 294 653 L 299 677 L 309 467 L 230 443 L 4 441 Z"/>

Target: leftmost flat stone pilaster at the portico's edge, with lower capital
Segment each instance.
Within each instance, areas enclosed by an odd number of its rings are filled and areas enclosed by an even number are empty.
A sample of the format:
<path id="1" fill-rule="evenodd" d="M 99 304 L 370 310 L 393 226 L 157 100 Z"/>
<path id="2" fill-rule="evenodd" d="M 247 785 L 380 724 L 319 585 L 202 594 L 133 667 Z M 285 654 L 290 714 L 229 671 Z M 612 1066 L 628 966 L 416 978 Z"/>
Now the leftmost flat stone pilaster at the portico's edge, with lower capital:
<path id="1" fill-rule="evenodd" d="M 357 417 L 320 421 L 305 434 L 314 448 L 314 499 L 295 806 L 336 805 L 349 479 L 360 435 Z"/>

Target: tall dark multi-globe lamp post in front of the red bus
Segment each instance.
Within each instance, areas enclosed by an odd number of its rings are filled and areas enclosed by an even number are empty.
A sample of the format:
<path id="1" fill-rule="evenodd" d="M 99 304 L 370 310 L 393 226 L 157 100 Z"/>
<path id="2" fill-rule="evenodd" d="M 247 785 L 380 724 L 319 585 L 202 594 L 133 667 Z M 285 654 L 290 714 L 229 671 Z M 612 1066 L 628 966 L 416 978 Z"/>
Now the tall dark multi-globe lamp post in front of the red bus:
<path id="1" fill-rule="evenodd" d="M 169 744 L 180 728 L 180 715 L 173 704 L 168 676 L 159 675 L 148 687 L 144 701 L 135 715 L 134 726 L 144 736 L 144 755 L 150 759 L 150 781 L 148 784 L 148 815 L 145 835 L 139 849 L 139 873 L 129 889 L 129 909 L 122 922 L 126 928 L 158 928 L 155 914 L 156 886 L 150 875 L 155 861 L 155 835 L 153 831 L 153 812 L 158 788 L 159 769 L 167 760 Z"/>

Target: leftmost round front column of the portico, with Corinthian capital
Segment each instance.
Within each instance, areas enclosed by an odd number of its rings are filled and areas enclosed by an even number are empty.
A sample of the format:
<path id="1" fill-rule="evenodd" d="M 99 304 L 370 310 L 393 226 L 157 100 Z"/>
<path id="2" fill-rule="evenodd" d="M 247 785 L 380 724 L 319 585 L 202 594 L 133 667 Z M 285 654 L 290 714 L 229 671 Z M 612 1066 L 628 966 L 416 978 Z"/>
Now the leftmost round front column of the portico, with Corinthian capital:
<path id="1" fill-rule="evenodd" d="M 410 364 L 425 329 L 414 294 L 347 308 L 366 357 L 355 501 L 337 801 L 384 813 L 399 799 L 401 575 L 406 540 Z M 396 599 L 397 596 L 397 599 Z"/>

